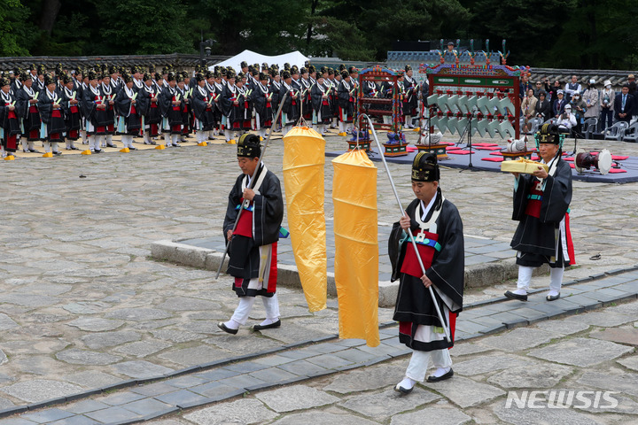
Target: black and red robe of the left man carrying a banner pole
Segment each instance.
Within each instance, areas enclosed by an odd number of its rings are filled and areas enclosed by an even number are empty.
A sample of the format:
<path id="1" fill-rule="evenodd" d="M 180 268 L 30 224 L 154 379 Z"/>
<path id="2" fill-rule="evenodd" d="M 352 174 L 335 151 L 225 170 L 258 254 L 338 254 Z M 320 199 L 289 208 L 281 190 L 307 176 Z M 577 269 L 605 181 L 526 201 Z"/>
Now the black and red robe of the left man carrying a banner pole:
<path id="1" fill-rule="evenodd" d="M 276 290 L 276 242 L 284 220 L 284 199 L 279 179 L 261 165 L 255 176 L 257 182 L 253 202 L 243 205 L 242 194 L 249 185 L 249 178 L 248 175 L 240 174 L 229 194 L 223 223 L 224 236 L 232 230 L 239 208 L 243 207 L 244 211 L 230 241 L 227 273 L 235 276 L 233 290 L 238 297 L 272 297 Z M 263 259 L 260 249 L 268 248 L 266 245 L 270 244 L 274 244 L 273 255 Z M 250 280 L 257 277 L 262 279 L 263 288 L 255 289 L 250 286 Z"/>

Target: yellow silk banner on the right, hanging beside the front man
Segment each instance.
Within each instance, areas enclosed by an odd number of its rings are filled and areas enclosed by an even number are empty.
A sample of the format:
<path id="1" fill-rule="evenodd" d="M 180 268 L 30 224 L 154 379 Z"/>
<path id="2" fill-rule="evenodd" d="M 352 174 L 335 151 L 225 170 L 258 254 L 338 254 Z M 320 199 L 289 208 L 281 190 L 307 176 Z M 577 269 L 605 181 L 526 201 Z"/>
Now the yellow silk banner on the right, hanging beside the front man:
<path id="1" fill-rule="evenodd" d="M 332 166 L 339 337 L 365 339 L 370 347 L 376 347 L 377 167 L 360 150 L 334 158 Z"/>

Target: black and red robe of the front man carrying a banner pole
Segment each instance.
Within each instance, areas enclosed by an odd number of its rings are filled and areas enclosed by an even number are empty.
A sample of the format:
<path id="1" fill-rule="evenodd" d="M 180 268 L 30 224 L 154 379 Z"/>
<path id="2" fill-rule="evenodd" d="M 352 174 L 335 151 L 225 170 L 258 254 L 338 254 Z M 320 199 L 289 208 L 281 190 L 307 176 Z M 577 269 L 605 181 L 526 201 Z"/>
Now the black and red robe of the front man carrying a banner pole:
<path id="1" fill-rule="evenodd" d="M 440 251 L 432 246 L 419 244 L 421 258 L 424 260 L 425 275 L 432 281 L 435 302 L 439 305 L 444 320 L 449 312 L 448 320 L 455 320 L 453 313 L 463 310 L 464 283 L 464 246 L 463 222 L 455 205 L 443 199 L 440 190 L 437 199 L 425 217 L 424 222 L 432 218 L 432 214 L 440 208 L 436 222 L 436 232 L 427 233 L 426 240 L 436 240 Z M 441 202 L 442 201 L 442 202 Z M 416 206 L 421 201 L 415 199 L 408 205 L 406 212 L 412 220 L 411 230 L 416 237 L 420 232 L 419 224 L 415 220 Z M 421 270 L 416 263 L 416 256 L 407 235 L 398 222 L 394 223 L 388 242 L 388 254 L 393 264 L 392 280 L 400 279 L 399 292 L 394 308 L 393 320 L 400 321 L 401 343 L 413 350 L 432 351 L 449 348 L 454 345 L 454 332 L 451 331 L 452 343 L 445 338 L 432 342 L 415 339 L 418 325 L 441 327 L 436 307 L 432 302 L 430 290 L 421 281 Z M 423 250 L 423 251 L 421 251 Z M 408 257 L 411 256 L 411 257 Z M 416 264 L 415 264 L 416 263 Z M 411 267 L 408 267 L 410 266 Z M 418 276 L 416 274 L 419 274 Z M 445 307 L 445 308 L 444 308 Z M 449 323 L 447 323 L 449 325 Z M 454 328 L 452 326 L 451 328 Z"/>

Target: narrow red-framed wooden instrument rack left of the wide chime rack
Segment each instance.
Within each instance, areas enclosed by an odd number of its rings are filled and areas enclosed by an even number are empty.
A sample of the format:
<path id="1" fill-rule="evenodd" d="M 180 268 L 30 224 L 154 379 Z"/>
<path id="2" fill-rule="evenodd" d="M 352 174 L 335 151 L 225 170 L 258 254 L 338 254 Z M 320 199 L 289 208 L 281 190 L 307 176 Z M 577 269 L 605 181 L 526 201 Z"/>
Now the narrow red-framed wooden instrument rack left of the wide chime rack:
<path id="1" fill-rule="evenodd" d="M 370 150 L 369 121 L 362 120 L 361 116 L 365 113 L 373 120 L 375 130 L 387 131 L 388 140 L 383 143 L 385 157 L 408 155 L 408 143 L 401 131 L 401 90 L 398 89 L 398 79 L 399 73 L 381 66 L 366 68 L 359 73 L 358 106 L 354 120 L 359 130 L 359 149 L 367 146 L 365 149 Z M 381 122 L 375 122 L 375 119 Z M 348 141 L 348 145 L 350 150 L 356 148 L 356 135 Z"/>

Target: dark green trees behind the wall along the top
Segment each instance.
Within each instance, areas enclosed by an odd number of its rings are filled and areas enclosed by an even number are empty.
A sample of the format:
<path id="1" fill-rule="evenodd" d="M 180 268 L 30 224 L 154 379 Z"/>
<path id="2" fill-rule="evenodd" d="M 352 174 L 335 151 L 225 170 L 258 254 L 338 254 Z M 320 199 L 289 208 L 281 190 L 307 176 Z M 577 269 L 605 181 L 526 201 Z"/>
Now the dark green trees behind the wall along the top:
<path id="1" fill-rule="evenodd" d="M 632 0 L 0 0 L 0 54 L 198 53 L 210 39 L 213 54 L 374 61 L 396 40 L 489 38 L 513 64 L 631 69 L 635 16 Z"/>

